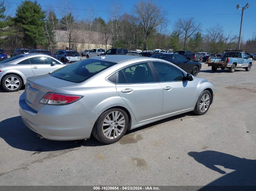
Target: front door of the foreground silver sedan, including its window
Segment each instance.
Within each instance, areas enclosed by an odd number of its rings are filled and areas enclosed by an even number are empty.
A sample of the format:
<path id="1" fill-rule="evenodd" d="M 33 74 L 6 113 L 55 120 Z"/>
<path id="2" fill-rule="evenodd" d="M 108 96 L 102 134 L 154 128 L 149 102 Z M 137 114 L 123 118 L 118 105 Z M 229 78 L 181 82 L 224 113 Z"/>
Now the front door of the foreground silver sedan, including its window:
<path id="1" fill-rule="evenodd" d="M 163 88 L 163 110 L 161 115 L 192 108 L 197 91 L 194 81 L 182 81 L 184 73 L 173 65 L 152 62 L 158 81 Z"/>

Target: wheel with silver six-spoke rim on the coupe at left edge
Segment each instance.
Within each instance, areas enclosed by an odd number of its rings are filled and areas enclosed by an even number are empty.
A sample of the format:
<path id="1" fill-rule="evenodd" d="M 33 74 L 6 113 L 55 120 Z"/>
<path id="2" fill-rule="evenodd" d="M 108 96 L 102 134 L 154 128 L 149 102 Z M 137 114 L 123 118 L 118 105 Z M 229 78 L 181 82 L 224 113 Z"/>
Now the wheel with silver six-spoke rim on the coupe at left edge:
<path id="1" fill-rule="evenodd" d="M 14 74 L 6 75 L 2 79 L 2 87 L 8 92 L 18 91 L 22 87 L 22 80 Z"/>

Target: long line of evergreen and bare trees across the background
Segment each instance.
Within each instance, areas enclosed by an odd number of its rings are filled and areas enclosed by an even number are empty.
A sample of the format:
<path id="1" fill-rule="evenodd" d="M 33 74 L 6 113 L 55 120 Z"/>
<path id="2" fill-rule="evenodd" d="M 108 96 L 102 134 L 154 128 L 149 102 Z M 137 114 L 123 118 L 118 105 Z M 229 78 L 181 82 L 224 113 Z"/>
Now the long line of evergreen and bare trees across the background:
<path id="1" fill-rule="evenodd" d="M 78 15 L 65 2 L 60 18 L 52 8 L 43 10 L 37 1 L 25 0 L 18 5 L 14 17 L 8 15 L 4 1 L 0 3 L 0 43 L 2 47 L 42 48 L 56 50 L 59 39 L 56 30 L 65 30 L 68 47 L 77 42 L 77 31 L 88 32 L 88 49 L 94 31 L 105 35 L 105 42 L 111 40 L 114 48 L 129 50 L 172 49 L 191 50 L 192 52 L 222 52 L 223 49 L 236 48 L 238 36 L 225 33 L 219 23 L 204 29 L 194 18 L 179 18 L 170 21 L 168 13 L 151 0 L 138 2 L 131 13 L 123 13 L 120 3 L 111 4 L 109 20 L 96 17 L 95 11 L 85 13 L 85 19 L 78 20 Z M 81 18 L 81 16 L 79 17 Z M 172 25 L 172 31 L 169 26 Z M 256 52 L 256 37 L 242 42 L 246 52 Z M 80 51 L 80 50 L 78 50 Z"/>

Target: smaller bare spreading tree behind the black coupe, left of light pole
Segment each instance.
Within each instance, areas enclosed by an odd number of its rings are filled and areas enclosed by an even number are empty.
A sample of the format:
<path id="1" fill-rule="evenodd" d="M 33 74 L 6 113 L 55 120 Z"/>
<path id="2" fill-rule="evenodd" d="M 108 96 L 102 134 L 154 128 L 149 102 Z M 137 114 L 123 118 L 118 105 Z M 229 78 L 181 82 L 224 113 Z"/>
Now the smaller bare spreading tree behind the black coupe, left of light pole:
<path id="1" fill-rule="evenodd" d="M 185 50 L 186 42 L 191 35 L 201 31 L 201 23 L 195 21 L 194 18 L 179 18 L 174 24 L 174 30 L 181 32 L 181 36 L 184 38 L 183 50 Z"/>

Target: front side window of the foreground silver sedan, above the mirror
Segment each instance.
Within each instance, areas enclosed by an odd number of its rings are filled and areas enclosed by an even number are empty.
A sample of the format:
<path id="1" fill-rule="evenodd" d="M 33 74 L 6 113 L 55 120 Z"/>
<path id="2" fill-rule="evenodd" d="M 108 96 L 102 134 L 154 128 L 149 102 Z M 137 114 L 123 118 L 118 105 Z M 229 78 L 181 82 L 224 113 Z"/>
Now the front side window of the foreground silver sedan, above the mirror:
<path id="1" fill-rule="evenodd" d="M 153 62 L 153 65 L 156 68 L 156 72 L 161 82 L 180 81 L 184 77 L 183 72 L 172 65 L 161 62 Z"/>

